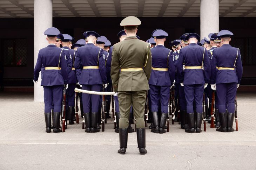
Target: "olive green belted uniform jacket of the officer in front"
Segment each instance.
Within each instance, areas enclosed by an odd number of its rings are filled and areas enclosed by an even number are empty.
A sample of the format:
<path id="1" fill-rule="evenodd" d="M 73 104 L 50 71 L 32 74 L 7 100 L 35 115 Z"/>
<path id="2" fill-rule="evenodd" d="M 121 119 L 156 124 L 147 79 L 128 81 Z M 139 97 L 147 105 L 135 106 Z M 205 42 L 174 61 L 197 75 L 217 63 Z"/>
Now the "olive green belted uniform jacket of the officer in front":
<path id="1" fill-rule="evenodd" d="M 143 68 L 141 71 L 121 71 L 127 68 Z M 149 90 L 151 51 L 148 43 L 137 37 L 126 37 L 116 43 L 112 52 L 111 79 L 114 92 Z"/>

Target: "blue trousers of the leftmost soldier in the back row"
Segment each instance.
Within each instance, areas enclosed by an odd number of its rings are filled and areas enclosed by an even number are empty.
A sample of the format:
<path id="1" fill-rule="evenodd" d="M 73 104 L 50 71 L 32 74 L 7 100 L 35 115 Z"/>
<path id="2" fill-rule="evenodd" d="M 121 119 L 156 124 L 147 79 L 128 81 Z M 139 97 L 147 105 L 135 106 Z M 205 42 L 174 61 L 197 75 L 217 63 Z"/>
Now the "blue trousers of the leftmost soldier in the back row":
<path id="1" fill-rule="evenodd" d="M 45 113 L 60 112 L 63 85 L 43 86 L 43 100 L 45 101 Z"/>

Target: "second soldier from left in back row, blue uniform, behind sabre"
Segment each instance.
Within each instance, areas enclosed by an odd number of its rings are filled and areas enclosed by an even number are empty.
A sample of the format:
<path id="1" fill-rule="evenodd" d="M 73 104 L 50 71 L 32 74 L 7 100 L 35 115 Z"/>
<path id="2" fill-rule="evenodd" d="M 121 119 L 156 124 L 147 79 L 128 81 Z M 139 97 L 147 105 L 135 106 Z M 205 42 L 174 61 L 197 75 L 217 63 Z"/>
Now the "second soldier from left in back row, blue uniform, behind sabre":
<path id="1" fill-rule="evenodd" d="M 96 47 L 94 44 L 97 38 L 100 37 L 94 31 L 87 31 L 88 43 L 78 48 L 75 69 L 79 84 L 83 90 L 101 91 L 102 83 L 107 86 L 106 68 L 103 59 L 103 50 Z M 97 115 L 99 109 L 100 96 L 94 94 L 82 94 L 83 113 L 85 117 L 85 132 L 95 133 L 100 132 L 97 128 Z M 92 114 L 90 116 L 90 111 Z"/>

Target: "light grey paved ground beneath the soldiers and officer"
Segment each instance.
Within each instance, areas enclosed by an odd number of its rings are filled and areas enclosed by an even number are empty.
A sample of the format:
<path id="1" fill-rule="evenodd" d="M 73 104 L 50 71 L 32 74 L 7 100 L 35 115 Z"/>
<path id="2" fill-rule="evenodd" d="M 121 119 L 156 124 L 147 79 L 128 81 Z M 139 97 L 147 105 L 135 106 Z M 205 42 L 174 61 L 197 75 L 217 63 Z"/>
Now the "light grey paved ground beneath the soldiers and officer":
<path id="1" fill-rule="evenodd" d="M 237 132 L 216 132 L 207 124 L 207 132 L 188 134 L 176 122 L 165 134 L 147 129 L 149 152 L 142 156 L 136 133 L 128 135 L 127 155 L 116 153 L 113 119 L 105 132 L 85 133 L 80 123 L 47 134 L 43 102 L 33 102 L 33 93 L 0 93 L 0 169 L 256 169 L 256 130 L 248 125 L 256 119 L 256 93 L 238 93 L 237 102 Z"/>

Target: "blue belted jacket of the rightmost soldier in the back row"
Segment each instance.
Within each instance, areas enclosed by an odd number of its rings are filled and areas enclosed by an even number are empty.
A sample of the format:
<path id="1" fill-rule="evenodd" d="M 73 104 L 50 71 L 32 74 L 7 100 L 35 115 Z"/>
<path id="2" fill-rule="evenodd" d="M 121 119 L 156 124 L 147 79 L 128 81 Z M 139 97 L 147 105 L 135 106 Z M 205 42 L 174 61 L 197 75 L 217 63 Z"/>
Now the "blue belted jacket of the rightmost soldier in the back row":
<path id="1" fill-rule="evenodd" d="M 217 67 L 235 68 L 235 70 L 217 70 Z M 240 84 L 243 74 L 243 66 L 240 50 L 223 44 L 214 49 L 211 61 L 211 84 L 238 83 Z"/>

